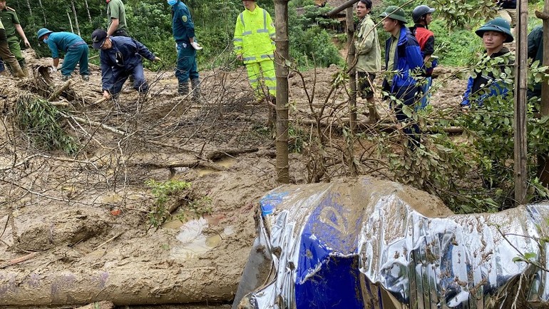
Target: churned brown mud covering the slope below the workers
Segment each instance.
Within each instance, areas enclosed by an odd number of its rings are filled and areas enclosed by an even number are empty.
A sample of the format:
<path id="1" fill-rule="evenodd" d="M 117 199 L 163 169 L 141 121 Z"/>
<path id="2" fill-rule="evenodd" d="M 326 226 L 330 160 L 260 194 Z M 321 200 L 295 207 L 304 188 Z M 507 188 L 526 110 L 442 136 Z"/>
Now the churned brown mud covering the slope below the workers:
<path id="1" fill-rule="evenodd" d="M 18 101 L 63 84 L 56 73 L 54 86 L 44 86 L 38 68 L 51 59 L 27 57 L 33 76 L 0 76 L 0 305 L 72 308 L 108 299 L 120 308 L 228 308 L 255 237 L 258 201 L 277 186 L 268 108 L 253 98 L 245 70 L 201 72 L 200 103 L 177 96 L 173 71 L 146 71 L 151 88 L 145 97 L 127 82 L 118 101 L 95 103 L 101 72 L 91 66 L 90 81 L 73 75 L 52 100 L 81 147 L 68 156 L 37 148 L 21 131 Z M 309 101 L 330 106 L 336 118 L 346 100 L 341 88 L 329 96 L 337 70 L 289 78 L 291 121 L 312 118 Z M 454 106 L 465 81 L 452 78 L 454 71 L 441 73 L 431 102 Z M 366 111 L 361 101 L 359 110 Z M 359 121 L 366 118 L 359 113 Z M 334 143 L 338 134 L 331 135 Z M 302 154 L 290 154 L 290 181 L 307 183 L 318 158 L 305 146 Z M 329 175 L 346 176 L 335 165 Z M 157 201 L 145 185 L 150 179 L 192 183 L 168 200 L 185 223 L 150 225 Z M 209 214 L 185 211 L 204 196 L 211 200 Z"/>

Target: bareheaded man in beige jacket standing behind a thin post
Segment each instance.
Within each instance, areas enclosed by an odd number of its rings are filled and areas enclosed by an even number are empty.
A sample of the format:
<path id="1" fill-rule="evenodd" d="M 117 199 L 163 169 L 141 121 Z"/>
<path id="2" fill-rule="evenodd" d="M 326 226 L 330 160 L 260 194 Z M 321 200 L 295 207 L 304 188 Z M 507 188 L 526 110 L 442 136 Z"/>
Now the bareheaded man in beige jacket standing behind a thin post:
<path id="1" fill-rule="evenodd" d="M 381 71 L 381 48 L 374 21 L 371 20 L 371 0 L 360 0 L 356 4 L 356 16 L 359 17 L 359 26 L 356 29 L 356 74 L 358 75 L 359 93 L 366 98 L 369 105 L 370 121 L 375 121 L 376 109 L 374 106 L 374 79 Z"/>

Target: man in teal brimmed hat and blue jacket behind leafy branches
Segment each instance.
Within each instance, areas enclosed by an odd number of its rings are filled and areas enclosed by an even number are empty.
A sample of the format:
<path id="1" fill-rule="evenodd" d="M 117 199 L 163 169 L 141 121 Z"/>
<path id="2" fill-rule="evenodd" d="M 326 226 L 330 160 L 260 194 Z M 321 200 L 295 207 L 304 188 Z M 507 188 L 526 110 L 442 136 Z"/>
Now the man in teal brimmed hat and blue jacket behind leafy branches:
<path id="1" fill-rule="evenodd" d="M 510 31 L 510 24 L 505 19 L 498 17 L 488 21 L 475 33 L 482 38 L 484 48 L 486 48 L 486 56 L 495 59 L 510 55 L 509 49 L 503 46 L 503 43 L 512 42 L 513 34 Z M 513 61 L 508 61 L 507 64 L 499 66 L 499 71 L 503 72 L 506 67 L 513 69 Z M 493 72 L 488 72 L 488 74 L 476 72 L 474 76 L 468 79 L 467 89 L 463 93 L 461 106 L 469 106 L 471 102 L 482 106 L 486 98 L 490 96 L 506 96 L 508 91 L 508 86 L 503 83 L 503 79 L 500 76 L 494 76 Z"/>

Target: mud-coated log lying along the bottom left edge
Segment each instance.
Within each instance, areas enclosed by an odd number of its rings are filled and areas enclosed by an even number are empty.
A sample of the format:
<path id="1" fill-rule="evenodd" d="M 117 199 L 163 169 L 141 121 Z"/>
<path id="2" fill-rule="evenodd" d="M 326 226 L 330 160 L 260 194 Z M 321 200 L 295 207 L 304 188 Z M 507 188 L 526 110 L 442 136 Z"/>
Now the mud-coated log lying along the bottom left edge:
<path id="1" fill-rule="evenodd" d="M 227 302 L 236 287 L 225 284 L 227 280 L 215 280 L 223 277 L 219 268 L 122 265 L 59 273 L 48 273 L 47 268 L 31 273 L 4 270 L 0 271 L 0 305 L 85 305 L 103 300 L 115 305 Z"/>

